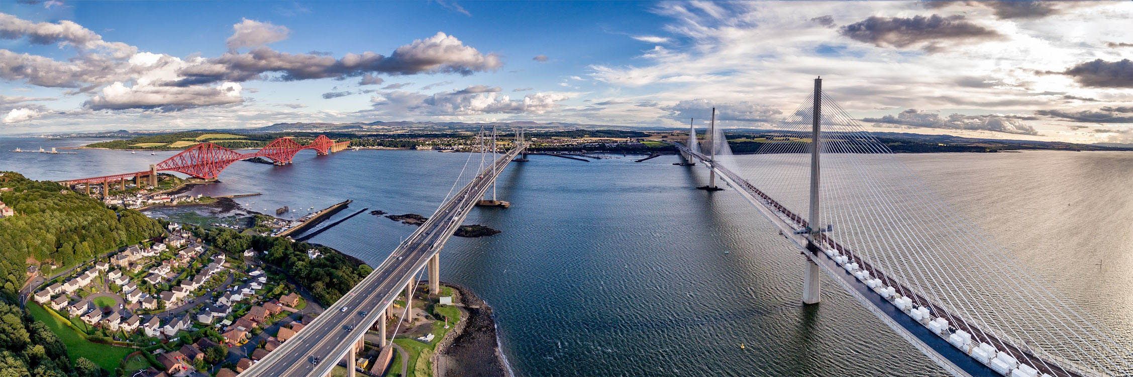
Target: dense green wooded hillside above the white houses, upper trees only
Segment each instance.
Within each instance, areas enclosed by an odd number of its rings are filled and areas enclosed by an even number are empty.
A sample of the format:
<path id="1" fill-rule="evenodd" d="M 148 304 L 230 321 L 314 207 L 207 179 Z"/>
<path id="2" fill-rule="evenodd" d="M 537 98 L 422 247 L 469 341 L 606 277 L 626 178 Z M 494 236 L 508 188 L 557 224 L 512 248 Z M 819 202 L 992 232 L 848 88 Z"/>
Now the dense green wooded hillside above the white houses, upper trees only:
<path id="1" fill-rule="evenodd" d="M 161 225 L 137 211 L 114 212 L 56 182 L 0 174 L 0 202 L 16 211 L 0 219 L 0 295 L 9 302 L 24 284 L 28 257 L 70 266 L 161 234 Z"/>

